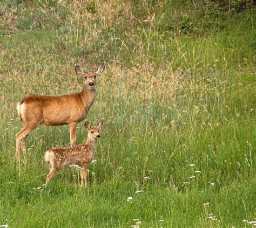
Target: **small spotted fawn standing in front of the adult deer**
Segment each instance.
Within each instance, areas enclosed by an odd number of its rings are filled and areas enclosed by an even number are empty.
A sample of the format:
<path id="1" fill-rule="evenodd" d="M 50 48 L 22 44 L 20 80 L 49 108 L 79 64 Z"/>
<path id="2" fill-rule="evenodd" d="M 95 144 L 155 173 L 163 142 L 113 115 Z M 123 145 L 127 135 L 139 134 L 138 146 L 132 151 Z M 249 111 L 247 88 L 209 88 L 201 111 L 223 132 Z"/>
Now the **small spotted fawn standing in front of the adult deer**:
<path id="1" fill-rule="evenodd" d="M 45 185 L 48 184 L 50 179 L 56 172 L 63 166 L 72 167 L 79 165 L 82 167 L 80 175 L 82 178 L 81 186 L 87 185 L 87 165 L 91 163 L 95 155 L 97 146 L 97 139 L 100 137 L 99 128 L 102 127 L 104 119 L 102 119 L 98 126 L 90 127 L 89 122 L 86 120 L 84 127 L 88 131 L 87 140 L 85 143 L 73 147 L 55 147 L 46 151 L 44 159 L 50 166 L 50 172 L 46 176 Z"/>

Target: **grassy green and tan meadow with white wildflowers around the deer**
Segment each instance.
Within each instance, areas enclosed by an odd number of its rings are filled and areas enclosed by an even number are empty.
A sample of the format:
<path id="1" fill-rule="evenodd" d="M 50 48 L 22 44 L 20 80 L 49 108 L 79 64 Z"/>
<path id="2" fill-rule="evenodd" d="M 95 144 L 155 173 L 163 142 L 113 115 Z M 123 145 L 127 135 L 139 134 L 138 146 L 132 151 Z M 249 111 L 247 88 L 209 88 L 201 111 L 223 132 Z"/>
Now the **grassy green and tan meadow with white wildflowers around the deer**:
<path id="1" fill-rule="evenodd" d="M 255 225 L 253 1 L 3 0 L 0 15 L 0 225 Z M 69 145 L 69 126 L 33 130 L 19 175 L 17 103 L 79 92 L 74 65 L 103 61 L 89 186 L 76 168 L 42 186 L 45 151 Z"/>

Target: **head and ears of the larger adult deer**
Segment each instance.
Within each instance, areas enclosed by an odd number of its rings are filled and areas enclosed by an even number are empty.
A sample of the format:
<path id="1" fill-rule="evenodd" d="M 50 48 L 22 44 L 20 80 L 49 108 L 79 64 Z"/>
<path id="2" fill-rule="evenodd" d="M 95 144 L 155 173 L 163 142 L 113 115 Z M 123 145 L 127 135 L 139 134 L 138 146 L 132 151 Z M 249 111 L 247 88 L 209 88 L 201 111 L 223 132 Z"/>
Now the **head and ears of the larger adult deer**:
<path id="1" fill-rule="evenodd" d="M 96 85 L 96 76 L 102 74 L 102 72 L 104 71 L 106 62 L 102 63 L 99 67 L 97 71 L 90 71 L 85 73 L 84 70 L 79 66 L 79 65 L 75 65 L 75 71 L 79 76 L 84 77 L 84 86 L 86 86 L 87 88 L 94 88 Z"/>

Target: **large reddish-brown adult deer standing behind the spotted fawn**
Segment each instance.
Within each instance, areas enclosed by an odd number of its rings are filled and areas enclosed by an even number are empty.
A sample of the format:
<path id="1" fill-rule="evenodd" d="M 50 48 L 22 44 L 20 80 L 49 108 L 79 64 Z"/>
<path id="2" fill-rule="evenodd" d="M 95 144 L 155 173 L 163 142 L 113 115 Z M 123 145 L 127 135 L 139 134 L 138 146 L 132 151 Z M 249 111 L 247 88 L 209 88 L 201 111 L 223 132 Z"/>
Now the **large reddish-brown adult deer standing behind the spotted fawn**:
<path id="1" fill-rule="evenodd" d="M 19 147 L 25 151 L 26 136 L 40 124 L 58 126 L 70 125 L 70 143 L 76 143 L 77 123 L 84 120 L 89 108 L 95 100 L 96 77 L 102 74 L 105 62 L 98 67 L 97 71 L 85 73 L 84 70 L 75 65 L 75 71 L 84 77 L 84 87 L 80 93 L 63 96 L 24 96 L 17 105 L 18 115 L 24 122 L 23 129 L 16 135 L 16 160 L 20 164 Z"/>

